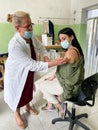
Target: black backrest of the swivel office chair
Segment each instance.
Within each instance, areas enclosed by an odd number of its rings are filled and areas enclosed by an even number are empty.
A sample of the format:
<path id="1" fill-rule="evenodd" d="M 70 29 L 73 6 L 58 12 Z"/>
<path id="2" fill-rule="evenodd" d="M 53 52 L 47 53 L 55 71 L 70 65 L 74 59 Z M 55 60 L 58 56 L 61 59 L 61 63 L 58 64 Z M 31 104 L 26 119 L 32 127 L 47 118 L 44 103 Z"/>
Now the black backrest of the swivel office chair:
<path id="1" fill-rule="evenodd" d="M 86 78 L 81 85 L 82 98 L 86 105 L 93 106 L 95 103 L 95 94 L 98 88 L 98 73 Z M 92 100 L 92 103 L 88 101 Z"/>

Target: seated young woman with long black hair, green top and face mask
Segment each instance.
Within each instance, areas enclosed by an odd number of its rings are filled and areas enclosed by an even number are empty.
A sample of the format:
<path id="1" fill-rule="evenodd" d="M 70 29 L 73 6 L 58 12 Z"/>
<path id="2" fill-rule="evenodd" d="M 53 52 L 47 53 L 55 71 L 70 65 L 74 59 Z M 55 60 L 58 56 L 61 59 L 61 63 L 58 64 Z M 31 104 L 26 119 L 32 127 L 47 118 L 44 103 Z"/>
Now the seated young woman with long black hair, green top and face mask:
<path id="1" fill-rule="evenodd" d="M 71 28 L 62 29 L 58 36 L 65 52 L 66 63 L 57 66 L 56 73 L 53 76 L 46 78 L 40 84 L 36 82 L 35 86 L 48 101 L 45 109 L 53 109 L 52 104 L 54 104 L 56 108 L 62 111 L 60 102 L 76 97 L 80 91 L 84 79 L 84 55 Z"/>

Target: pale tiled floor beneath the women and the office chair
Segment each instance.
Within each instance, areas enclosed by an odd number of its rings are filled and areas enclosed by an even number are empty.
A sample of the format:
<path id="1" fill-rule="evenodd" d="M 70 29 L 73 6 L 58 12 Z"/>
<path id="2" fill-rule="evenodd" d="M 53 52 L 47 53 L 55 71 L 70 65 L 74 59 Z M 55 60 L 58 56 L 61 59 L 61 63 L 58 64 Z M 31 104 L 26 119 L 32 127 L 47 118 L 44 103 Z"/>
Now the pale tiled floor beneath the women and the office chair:
<path id="1" fill-rule="evenodd" d="M 0 91 L 0 130 L 20 130 L 16 125 L 14 114 L 4 102 L 3 99 L 4 92 Z M 88 113 L 88 118 L 80 119 L 85 123 L 91 130 L 98 130 L 98 92 L 96 94 L 96 102 L 93 107 L 89 106 L 76 106 L 77 114 L 79 113 Z M 21 113 L 22 117 L 27 123 L 28 127 L 25 130 L 68 130 L 68 122 L 60 122 L 52 124 L 51 121 L 53 118 L 58 117 L 57 111 L 47 112 L 41 110 L 41 107 L 46 103 L 42 98 L 42 94 L 37 91 L 34 93 L 34 99 L 31 102 L 31 105 L 34 104 L 35 108 L 39 111 L 38 116 L 31 115 L 24 111 L 22 108 Z M 68 109 L 70 110 L 72 103 L 68 102 Z M 76 126 L 74 130 L 83 130 L 83 128 Z"/>

